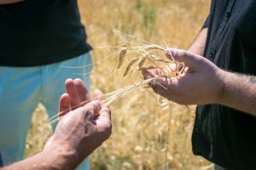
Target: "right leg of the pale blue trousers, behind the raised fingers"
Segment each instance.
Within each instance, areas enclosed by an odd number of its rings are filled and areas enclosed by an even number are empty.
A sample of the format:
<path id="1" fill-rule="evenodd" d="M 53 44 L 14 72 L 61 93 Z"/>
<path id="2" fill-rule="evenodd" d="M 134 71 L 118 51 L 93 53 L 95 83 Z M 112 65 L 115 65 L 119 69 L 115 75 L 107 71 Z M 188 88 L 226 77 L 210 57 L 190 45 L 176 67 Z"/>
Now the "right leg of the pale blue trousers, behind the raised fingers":
<path id="1" fill-rule="evenodd" d="M 86 88 L 90 90 L 91 63 L 90 54 L 82 54 L 74 59 L 68 59 L 60 63 L 43 66 L 43 104 L 49 117 L 55 116 L 58 112 L 60 96 L 66 92 L 64 82 L 67 78 L 80 78 L 85 83 Z M 67 66 L 77 68 L 67 68 Z M 55 126 L 56 123 L 53 124 L 53 129 L 55 129 Z M 78 169 L 89 169 L 88 159 L 84 160 Z"/>

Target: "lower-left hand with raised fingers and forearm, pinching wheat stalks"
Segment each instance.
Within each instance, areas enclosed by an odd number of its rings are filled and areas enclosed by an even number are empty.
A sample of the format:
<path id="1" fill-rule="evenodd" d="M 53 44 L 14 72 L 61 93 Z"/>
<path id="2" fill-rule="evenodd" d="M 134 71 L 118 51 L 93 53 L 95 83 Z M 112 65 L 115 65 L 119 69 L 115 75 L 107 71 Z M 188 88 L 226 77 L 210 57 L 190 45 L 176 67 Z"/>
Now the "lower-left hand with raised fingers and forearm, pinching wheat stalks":
<path id="1" fill-rule="evenodd" d="M 44 150 L 26 160 L 3 167 L 9 169 L 75 169 L 86 156 L 95 150 L 111 134 L 111 117 L 108 107 L 92 101 L 73 111 L 68 109 L 90 99 L 80 79 L 66 82 L 67 94 L 60 99 L 60 111 L 64 111 L 55 133 L 44 146 Z M 96 91 L 95 96 L 102 95 Z M 65 114 L 66 113 L 66 114 Z"/>

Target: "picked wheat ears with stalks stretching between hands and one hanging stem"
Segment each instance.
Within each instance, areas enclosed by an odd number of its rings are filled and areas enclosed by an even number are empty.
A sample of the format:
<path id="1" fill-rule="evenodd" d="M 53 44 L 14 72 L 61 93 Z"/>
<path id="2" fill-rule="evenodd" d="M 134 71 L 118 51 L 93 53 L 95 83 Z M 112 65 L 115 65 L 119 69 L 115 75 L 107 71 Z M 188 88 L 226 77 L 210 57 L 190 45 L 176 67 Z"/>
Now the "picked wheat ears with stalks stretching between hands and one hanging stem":
<path id="1" fill-rule="evenodd" d="M 142 40 L 139 40 L 139 42 L 142 42 Z M 133 46 L 132 46 L 133 45 Z M 177 77 L 183 73 L 184 71 L 184 64 L 177 62 L 172 54 L 169 53 L 171 56 L 171 59 L 166 59 L 166 48 L 162 48 L 159 45 L 152 44 L 150 42 L 146 42 L 144 44 L 139 44 L 134 46 L 134 44 L 127 43 L 125 45 L 122 45 L 119 47 L 117 56 L 117 67 L 116 71 L 122 72 L 122 77 L 127 77 L 128 75 L 131 75 L 132 73 L 135 73 L 137 71 L 145 71 L 150 69 L 159 69 L 162 71 L 161 75 L 155 76 L 152 78 L 149 78 L 147 80 L 143 80 L 141 82 L 136 82 L 131 84 L 130 86 L 127 86 L 125 88 L 120 88 L 116 91 L 113 91 L 108 94 L 103 94 L 102 96 L 88 99 L 83 102 L 81 102 L 79 105 L 74 105 L 70 110 L 74 110 L 80 106 L 86 105 L 92 100 L 99 100 L 102 103 L 102 107 L 111 105 L 114 101 L 122 98 L 129 92 L 131 92 L 133 89 L 136 88 L 146 88 L 148 86 L 148 83 L 151 81 L 155 81 L 158 78 L 166 78 L 166 81 L 168 81 L 171 77 Z M 132 57 L 132 58 L 131 58 Z M 162 85 L 160 85 L 162 86 Z M 166 88 L 166 87 L 163 87 Z M 169 116 L 169 122 L 168 122 L 168 130 L 167 130 L 167 136 L 166 136 L 166 161 L 165 161 L 165 169 L 168 167 L 167 164 L 167 148 L 168 148 L 168 137 L 169 137 L 169 131 L 170 131 L 170 121 L 172 117 L 172 108 L 170 108 L 170 102 L 167 99 L 163 99 L 162 97 L 159 97 L 159 104 L 163 107 L 164 110 L 170 109 L 170 116 Z M 61 119 L 62 116 L 64 116 L 68 111 L 61 111 L 56 116 L 49 118 L 49 123 L 57 122 Z"/>

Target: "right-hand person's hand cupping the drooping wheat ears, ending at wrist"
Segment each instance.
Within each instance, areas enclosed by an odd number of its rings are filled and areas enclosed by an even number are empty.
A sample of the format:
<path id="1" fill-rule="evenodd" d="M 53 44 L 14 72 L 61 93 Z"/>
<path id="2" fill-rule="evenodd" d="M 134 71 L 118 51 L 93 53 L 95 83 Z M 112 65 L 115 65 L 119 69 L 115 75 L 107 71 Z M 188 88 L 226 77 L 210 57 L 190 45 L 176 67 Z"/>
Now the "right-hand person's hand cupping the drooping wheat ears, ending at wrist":
<path id="1" fill-rule="evenodd" d="M 224 71 L 210 60 L 188 51 L 167 48 L 166 57 L 185 64 L 180 77 L 158 78 L 149 83 L 156 94 L 182 105 L 217 103 L 224 89 Z M 143 71 L 145 79 L 160 76 L 159 69 Z"/>

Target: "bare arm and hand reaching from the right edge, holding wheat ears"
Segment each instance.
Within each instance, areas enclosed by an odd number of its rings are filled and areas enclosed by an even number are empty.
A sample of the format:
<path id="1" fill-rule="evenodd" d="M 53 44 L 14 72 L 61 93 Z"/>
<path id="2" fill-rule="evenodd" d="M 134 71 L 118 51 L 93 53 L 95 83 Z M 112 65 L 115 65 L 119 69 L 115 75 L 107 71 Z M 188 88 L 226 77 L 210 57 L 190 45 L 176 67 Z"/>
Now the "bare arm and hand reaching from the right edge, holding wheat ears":
<path id="1" fill-rule="evenodd" d="M 182 105 L 227 105 L 256 116 L 256 77 L 223 71 L 210 60 L 180 49 L 167 49 L 186 65 L 180 77 L 160 78 L 150 82 L 154 92 Z M 148 79 L 162 74 L 154 69 L 144 71 Z"/>

